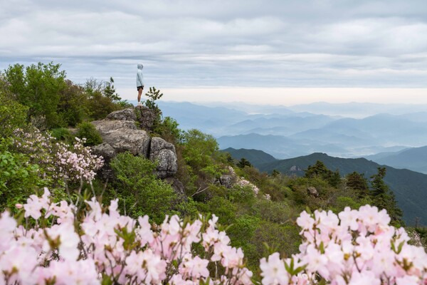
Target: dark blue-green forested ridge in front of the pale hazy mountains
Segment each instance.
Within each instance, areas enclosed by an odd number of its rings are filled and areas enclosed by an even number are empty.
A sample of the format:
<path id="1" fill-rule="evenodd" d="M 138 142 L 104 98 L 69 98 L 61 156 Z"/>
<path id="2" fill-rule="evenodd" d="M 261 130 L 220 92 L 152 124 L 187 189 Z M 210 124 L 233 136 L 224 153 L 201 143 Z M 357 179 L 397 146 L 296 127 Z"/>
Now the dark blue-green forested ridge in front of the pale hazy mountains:
<path id="1" fill-rule="evenodd" d="M 273 172 L 278 170 L 286 175 L 303 176 L 304 170 L 309 165 L 314 165 L 317 160 L 321 160 L 330 170 L 339 170 L 344 176 L 351 172 L 363 173 L 369 178 L 376 174 L 377 168 L 380 167 L 376 162 L 369 161 L 365 158 L 339 158 L 331 157 L 325 153 L 312 153 L 301 157 L 290 158 L 287 160 L 273 160 L 260 163 L 262 160 L 269 160 L 265 152 L 259 150 L 224 150 L 231 155 L 240 159 L 246 157 L 260 171 Z M 242 156 L 245 154 L 246 156 Z M 427 225 L 427 175 L 413 172 L 411 170 L 399 170 L 394 167 L 385 166 L 387 170 L 384 182 L 389 185 L 390 189 L 396 195 L 399 207 L 404 211 L 404 220 L 407 224 L 413 224 L 416 217 L 421 219 L 421 224 Z"/>

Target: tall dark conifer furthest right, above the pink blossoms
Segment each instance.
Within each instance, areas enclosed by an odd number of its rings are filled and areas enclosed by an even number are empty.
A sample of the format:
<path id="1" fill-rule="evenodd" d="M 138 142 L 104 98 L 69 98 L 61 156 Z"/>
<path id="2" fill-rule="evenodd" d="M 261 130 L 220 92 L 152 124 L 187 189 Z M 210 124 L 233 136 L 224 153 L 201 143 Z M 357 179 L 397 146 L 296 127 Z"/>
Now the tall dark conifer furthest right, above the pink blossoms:
<path id="1" fill-rule="evenodd" d="M 401 227 L 404 224 L 402 220 L 403 212 L 397 206 L 394 193 L 390 191 L 389 186 L 384 182 L 386 176 L 386 167 L 378 167 L 378 173 L 371 176 L 371 196 L 372 204 L 379 209 L 386 209 L 391 218 L 391 224 L 395 227 Z"/>

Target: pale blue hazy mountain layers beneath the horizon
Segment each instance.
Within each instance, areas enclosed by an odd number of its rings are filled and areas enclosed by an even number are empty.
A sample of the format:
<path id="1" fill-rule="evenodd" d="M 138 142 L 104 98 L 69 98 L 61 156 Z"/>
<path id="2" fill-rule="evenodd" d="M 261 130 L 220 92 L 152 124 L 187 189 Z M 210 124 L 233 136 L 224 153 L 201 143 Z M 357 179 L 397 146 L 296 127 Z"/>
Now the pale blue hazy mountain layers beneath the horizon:
<path id="1" fill-rule="evenodd" d="M 369 158 L 427 145 L 427 105 L 312 103 L 285 107 L 165 101 L 159 105 L 181 128 L 214 135 L 221 149 L 263 150 L 278 159 L 312 152 Z M 427 167 L 420 163 L 417 170 Z"/>

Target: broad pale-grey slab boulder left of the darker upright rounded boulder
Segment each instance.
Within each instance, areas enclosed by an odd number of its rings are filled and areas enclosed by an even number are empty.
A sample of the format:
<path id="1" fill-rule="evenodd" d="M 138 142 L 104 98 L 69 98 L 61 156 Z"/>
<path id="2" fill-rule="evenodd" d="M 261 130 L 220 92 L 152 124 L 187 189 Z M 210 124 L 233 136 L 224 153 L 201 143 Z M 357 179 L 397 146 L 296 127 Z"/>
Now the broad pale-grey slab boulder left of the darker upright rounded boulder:
<path id="1" fill-rule="evenodd" d="M 92 122 L 102 141 L 116 153 L 130 152 L 132 155 L 148 157 L 150 137 L 145 130 L 138 130 L 130 120 L 95 120 Z"/>

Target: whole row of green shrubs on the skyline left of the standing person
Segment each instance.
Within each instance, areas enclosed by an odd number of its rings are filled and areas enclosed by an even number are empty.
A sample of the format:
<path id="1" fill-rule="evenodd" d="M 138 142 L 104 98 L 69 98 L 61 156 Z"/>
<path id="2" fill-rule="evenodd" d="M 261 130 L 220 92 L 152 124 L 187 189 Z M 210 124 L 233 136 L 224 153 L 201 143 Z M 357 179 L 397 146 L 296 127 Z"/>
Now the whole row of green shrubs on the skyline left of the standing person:
<path id="1" fill-rule="evenodd" d="M 116 93 L 114 80 L 89 79 L 78 86 L 65 79 L 60 64 L 38 63 L 31 66 L 15 64 L 4 73 L 1 90 L 8 98 L 28 107 L 28 121 L 38 127 L 75 126 L 84 120 L 99 120 L 115 110 L 128 108 Z"/>

